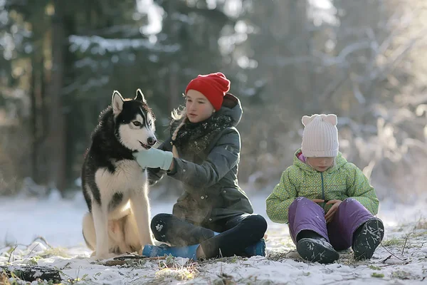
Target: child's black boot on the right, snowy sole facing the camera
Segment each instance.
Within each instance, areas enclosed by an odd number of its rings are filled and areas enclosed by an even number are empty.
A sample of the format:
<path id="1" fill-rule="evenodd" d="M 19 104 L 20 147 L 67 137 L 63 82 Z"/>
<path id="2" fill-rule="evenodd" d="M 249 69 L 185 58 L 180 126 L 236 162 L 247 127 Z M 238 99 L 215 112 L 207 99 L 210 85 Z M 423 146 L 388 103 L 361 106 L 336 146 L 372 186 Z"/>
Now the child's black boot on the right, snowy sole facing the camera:
<path id="1" fill-rule="evenodd" d="M 364 222 L 353 236 L 354 259 L 370 259 L 374 255 L 376 247 L 379 246 L 384 237 L 384 224 L 381 219 L 372 218 Z"/>

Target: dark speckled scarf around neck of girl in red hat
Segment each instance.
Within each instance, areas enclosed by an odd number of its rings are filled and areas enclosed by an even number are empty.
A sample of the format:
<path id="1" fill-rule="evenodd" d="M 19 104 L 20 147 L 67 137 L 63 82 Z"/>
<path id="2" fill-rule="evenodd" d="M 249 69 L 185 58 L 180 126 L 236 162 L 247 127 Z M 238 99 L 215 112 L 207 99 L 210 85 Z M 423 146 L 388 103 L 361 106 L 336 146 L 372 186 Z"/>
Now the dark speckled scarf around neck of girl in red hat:
<path id="1" fill-rule="evenodd" d="M 233 125 L 233 119 L 226 115 L 211 116 L 199 123 L 191 123 L 187 118 L 184 120 L 186 122 L 179 128 L 173 144 L 181 153 L 194 153 L 196 155 L 206 150 L 218 132 Z M 172 133 L 177 127 L 176 123 L 179 125 L 179 122 L 172 123 Z"/>

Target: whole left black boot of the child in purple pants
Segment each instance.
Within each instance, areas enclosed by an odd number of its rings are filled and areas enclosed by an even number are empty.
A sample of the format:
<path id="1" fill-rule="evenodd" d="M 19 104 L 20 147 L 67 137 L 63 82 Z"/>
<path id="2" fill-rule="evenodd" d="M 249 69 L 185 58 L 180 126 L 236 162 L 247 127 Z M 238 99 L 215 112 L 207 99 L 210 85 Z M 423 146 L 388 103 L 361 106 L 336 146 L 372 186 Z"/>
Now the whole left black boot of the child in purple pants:
<path id="1" fill-rule="evenodd" d="M 316 232 L 304 230 L 298 234 L 298 238 L 297 252 L 307 261 L 328 264 L 339 258 L 332 245 Z"/>

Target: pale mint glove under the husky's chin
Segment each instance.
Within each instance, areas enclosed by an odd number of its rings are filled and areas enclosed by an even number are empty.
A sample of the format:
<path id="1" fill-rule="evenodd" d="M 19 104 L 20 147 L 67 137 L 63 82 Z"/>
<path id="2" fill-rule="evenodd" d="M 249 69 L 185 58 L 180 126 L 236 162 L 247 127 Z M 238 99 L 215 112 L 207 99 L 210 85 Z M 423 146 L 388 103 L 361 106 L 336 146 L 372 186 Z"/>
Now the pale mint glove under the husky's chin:
<path id="1" fill-rule="evenodd" d="M 169 170 L 171 167 L 174 155 L 172 152 L 150 148 L 149 150 L 141 150 L 132 154 L 137 160 L 139 166 L 143 169 L 160 167 L 162 170 Z"/>

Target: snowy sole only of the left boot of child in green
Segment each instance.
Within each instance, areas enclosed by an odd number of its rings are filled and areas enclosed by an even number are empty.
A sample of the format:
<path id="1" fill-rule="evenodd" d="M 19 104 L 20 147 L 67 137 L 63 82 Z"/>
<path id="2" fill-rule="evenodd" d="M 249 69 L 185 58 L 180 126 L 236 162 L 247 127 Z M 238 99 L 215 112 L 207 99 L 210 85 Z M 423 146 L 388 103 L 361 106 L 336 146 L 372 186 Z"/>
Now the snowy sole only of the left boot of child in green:
<path id="1" fill-rule="evenodd" d="M 333 263 L 339 259 L 338 252 L 325 247 L 319 242 L 313 242 L 312 239 L 300 239 L 297 242 L 297 252 L 303 259 L 321 264 Z M 329 246 L 332 247 L 331 245 Z"/>

